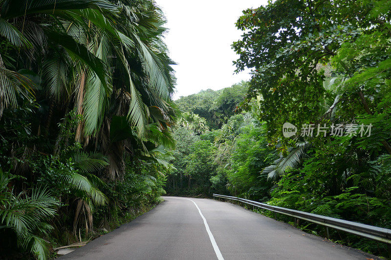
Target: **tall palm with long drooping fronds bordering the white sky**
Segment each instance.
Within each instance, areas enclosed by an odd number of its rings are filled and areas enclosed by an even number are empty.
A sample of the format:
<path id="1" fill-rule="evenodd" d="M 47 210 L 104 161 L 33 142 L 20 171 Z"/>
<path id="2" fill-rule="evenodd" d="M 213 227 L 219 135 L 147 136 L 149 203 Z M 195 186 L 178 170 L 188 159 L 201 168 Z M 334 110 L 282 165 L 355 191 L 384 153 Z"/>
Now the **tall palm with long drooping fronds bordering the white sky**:
<path id="1" fill-rule="evenodd" d="M 117 58 L 121 59 L 113 60 L 116 68 L 113 91 L 95 139 L 109 157 L 110 179 L 121 178 L 127 151 L 134 155 L 138 144 L 153 138 L 151 124 L 155 123 L 165 136 L 174 124 L 175 114 L 171 103 L 174 77 L 170 64 L 173 62 L 161 41 L 164 18 L 151 1 L 119 1 L 118 4 L 122 7 L 119 15 L 122 22 L 117 30 L 123 40 L 121 50 L 126 51 L 117 52 Z M 112 120 L 118 117 L 126 120 L 130 134 L 121 140 L 110 140 L 116 125 Z M 141 146 L 147 152 L 145 145 Z"/>

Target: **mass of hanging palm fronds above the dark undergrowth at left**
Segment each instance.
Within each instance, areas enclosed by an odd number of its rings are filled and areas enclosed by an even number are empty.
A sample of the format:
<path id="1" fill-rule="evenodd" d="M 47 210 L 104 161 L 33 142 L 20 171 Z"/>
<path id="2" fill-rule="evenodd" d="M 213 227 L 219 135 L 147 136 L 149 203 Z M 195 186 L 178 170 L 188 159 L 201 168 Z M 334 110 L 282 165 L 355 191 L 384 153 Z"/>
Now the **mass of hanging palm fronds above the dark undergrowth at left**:
<path id="1" fill-rule="evenodd" d="M 76 140 L 85 145 L 90 140 L 99 143 L 102 152 L 116 158 L 110 160 L 113 163 L 125 149 L 122 143 L 105 144 L 112 116 L 126 117 L 135 139 L 148 138 L 147 126 L 152 122 L 160 130 L 173 124 L 170 100 L 174 76 L 170 64 L 174 62 L 161 40 L 164 17 L 152 1 L 0 3 L 0 35 L 9 47 L 0 52 L 0 57 L 18 57 L 20 61 L 14 71 L 0 69 L 0 81 L 5 82 L 1 84 L 0 111 L 9 104 L 16 106 L 18 93 L 30 99 L 31 94 L 44 95 L 49 107 L 48 130 L 55 104 L 62 109 L 74 107 L 83 118 Z M 20 6 L 25 6 L 25 12 Z M 37 82 L 30 80 L 33 76 Z M 9 88 L 11 84 L 15 87 Z M 10 93 L 9 89 L 15 91 Z M 65 109 L 65 114 L 68 111 Z M 118 153 L 111 156 L 113 145 L 119 146 Z M 120 175 L 118 167 L 111 163 L 110 167 L 111 179 Z"/>

